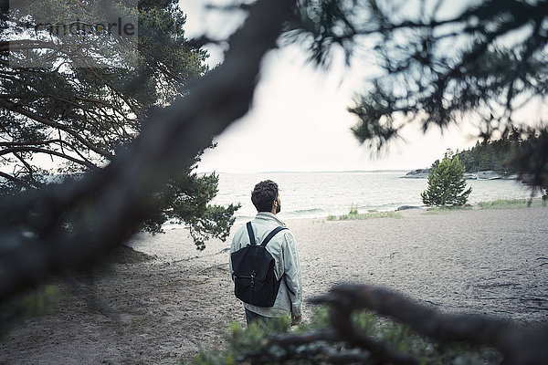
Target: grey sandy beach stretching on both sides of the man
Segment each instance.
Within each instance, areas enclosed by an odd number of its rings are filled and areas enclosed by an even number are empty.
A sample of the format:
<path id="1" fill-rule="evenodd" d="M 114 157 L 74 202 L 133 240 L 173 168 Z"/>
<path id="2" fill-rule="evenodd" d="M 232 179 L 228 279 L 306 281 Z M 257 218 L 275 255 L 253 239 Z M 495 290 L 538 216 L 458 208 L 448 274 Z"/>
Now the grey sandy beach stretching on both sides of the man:
<path id="1" fill-rule="evenodd" d="M 548 321 L 548 208 L 402 215 L 288 221 L 305 298 L 357 282 L 444 312 Z M 222 349 L 229 324 L 244 323 L 228 245 L 212 241 L 198 252 L 181 228 L 135 237 L 132 247 L 153 260 L 116 265 L 92 287 L 60 286 L 58 307 L 1 339 L 0 363 L 176 364 L 201 349 Z M 86 299 L 90 288 L 102 309 Z M 305 305 L 304 320 L 311 309 Z"/>

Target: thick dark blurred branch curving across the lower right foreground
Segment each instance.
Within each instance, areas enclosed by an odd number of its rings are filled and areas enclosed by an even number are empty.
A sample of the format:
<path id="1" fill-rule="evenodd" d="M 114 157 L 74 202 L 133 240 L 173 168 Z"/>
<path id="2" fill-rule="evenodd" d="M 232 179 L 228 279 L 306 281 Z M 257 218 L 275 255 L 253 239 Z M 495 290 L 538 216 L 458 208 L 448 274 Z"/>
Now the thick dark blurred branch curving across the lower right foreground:
<path id="1" fill-rule="evenodd" d="M 364 335 L 355 328 L 352 314 L 359 309 L 373 310 L 379 315 L 394 318 L 437 342 L 466 342 L 499 349 L 508 364 L 541 364 L 548 359 L 548 327 L 523 328 L 499 318 L 439 313 L 394 291 L 383 287 L 340 285 L 325 297 L 311 300 L 327 303 L 331 310 L 331 325 L 337 335 L 353 346 L 367 349 L 381 363 L 414 363 L 393 350 L 372 348 L 363 341 Z"/>

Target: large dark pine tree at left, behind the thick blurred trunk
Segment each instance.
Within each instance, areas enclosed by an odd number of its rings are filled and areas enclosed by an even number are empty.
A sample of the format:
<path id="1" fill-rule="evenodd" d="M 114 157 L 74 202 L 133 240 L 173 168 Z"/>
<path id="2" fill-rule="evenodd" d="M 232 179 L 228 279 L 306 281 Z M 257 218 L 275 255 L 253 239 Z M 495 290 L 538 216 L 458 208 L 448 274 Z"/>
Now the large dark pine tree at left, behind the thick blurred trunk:
<path id="1" fill-rule="evenodd" d="M 116 37 L 25 30 L 42 18 L 58 17 L 61 25 L 108 19 L 108 6 L 100 2 L 21 3 L 28 12 L 0 13 L 0 199 L 99 171 L 142 132 L 150 110 L 186 95 L 189 80 L 208 71 L 206 51 L 185 37 L 186 16 L 177 0 L 139 0 L 136 8 L 137 2 L 118 2 L 121 14 L 134 13 L 128 19 L 138 22 L 133 44 Z M 41 39 L 47 41 L 36 43 Z M 19 67 L 13 59 L 40 67 Z M 57 63 L 47 67 L 50 59 Z M 199 249 L 211 238 L 227 239 L 239 205 L 211 203 L 218 175 L 194 172 L 202 152 L 185 159 L 185 167 L 153 193 L 151 212 L 140 228 L 158 233 L 165 222 L 184 224 Z"/>

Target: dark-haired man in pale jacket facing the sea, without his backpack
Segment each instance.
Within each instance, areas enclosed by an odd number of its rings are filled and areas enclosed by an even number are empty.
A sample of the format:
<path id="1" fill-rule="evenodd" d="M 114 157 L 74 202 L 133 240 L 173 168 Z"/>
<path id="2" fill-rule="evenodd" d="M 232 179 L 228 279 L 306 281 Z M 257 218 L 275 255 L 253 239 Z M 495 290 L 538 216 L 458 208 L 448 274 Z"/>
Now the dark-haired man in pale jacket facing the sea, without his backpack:
<path id="1" fill-rule="evenodd" d="M 285 227 L 276 214 L 279 214 L 281 202 L 279 200 L 278 184 L 270 180 L 255 185 L 251 193 L 251 202 L 257 208 L 257 216 L 251 221 L 256 242 L 260 245 L 265 237 L 278 226 Z M 246 225 L 240 227 L 230 247 L 230 254 L 249 244 L 249 235 Z M 274 274 L 276 279 L 282 277 L 278 296 L 273 307 L 257 307 L 244 303 L 246 309 L 246 321 L 269 321 L 269 318 L 291 317 L 291 323 L 300 322 L 302 308 L 302 284 L 300 280 L 300 263 L 295 239 L 290 230 L 284 229 L 274 235 L 266 247 L 270 255 L 274 257 Z M 229 259 L 230 273 L 234 280 L 232 260 Z"/>

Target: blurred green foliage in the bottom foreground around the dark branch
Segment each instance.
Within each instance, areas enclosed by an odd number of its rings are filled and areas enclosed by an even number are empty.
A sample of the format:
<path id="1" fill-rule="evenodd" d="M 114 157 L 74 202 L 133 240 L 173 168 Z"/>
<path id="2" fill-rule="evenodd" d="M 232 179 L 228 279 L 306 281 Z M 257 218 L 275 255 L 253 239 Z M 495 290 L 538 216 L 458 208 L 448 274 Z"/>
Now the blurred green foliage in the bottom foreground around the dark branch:
<path id="1" fill-rule="evenodd" d="M 284 319 L 280 319 L 281 322 Z M 329 328 L 329 309 L 316 308 L 310 322 L 297 326 L 290 333 L 310 334 Z M 501 354 L 494 349 L 475 348 L 468 344 L 453 343 L 440 345 L 420 337 L 406 325 L 396 323 L 388 318 L 381 318 L 370 311 L 356 312 L 353 316 L 354 326 L 364 330 L 372 339 L 383 341 L 395 350 L 412 356 L 419 364 L 495 364 L 501 362 Z M 280 323 L 279 328 L 288 328 L 289 322 Z M 284 364 L 329 364 L 328 352 L 337 353 L 352 349 L 352 346 L 341 341 L 311 341 L 310 343 L 282 345 L 272 335 L 288 334 L 287 330 L 273 330 L 257 324 L 241 328 L 233 323 L 227 335 L 227 349 L 202 352 L 192 361 L 194 365 L 226 365 L 245 361 L 254 363 Z"/>

